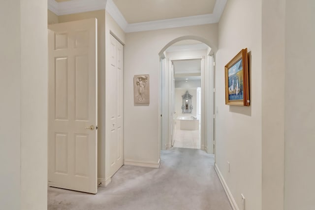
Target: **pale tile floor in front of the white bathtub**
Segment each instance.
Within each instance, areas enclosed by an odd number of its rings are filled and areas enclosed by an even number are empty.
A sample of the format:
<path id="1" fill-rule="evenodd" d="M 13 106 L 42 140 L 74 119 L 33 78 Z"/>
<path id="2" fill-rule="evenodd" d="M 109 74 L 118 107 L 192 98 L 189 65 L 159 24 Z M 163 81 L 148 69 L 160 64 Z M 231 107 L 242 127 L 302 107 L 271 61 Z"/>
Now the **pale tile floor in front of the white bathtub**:
<path id="1" fill-rule="evenodd" d="M 175 126 L 174 145 L 173 147 L 200 149 L 200 124 L 199 130 L 185 131 Z"/>

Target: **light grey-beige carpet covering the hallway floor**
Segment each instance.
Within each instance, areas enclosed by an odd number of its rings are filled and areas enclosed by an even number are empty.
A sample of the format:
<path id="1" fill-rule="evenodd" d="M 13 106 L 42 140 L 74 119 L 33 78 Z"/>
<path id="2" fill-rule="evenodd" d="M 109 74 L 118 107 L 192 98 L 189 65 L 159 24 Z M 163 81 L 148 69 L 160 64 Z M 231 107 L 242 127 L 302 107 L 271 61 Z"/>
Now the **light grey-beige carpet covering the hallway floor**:
<path id="1" fill-rule="evenodd" d="M 48 210 L 232 210 L 200 149 L 161 151 L 160 169 L 123 166 L 96 195 L 49 187 Z"/>

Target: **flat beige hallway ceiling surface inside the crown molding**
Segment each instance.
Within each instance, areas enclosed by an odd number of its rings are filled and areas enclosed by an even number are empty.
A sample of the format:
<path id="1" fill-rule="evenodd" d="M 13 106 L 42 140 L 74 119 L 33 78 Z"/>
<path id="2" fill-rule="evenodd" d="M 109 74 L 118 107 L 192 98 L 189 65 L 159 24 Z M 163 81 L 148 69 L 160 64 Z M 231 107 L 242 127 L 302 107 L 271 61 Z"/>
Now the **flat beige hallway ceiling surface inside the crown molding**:
<path id="1" fill-rule="evenodd" d="M 113 0 L 128 23 L 213 13 L 216 0 Z"/>

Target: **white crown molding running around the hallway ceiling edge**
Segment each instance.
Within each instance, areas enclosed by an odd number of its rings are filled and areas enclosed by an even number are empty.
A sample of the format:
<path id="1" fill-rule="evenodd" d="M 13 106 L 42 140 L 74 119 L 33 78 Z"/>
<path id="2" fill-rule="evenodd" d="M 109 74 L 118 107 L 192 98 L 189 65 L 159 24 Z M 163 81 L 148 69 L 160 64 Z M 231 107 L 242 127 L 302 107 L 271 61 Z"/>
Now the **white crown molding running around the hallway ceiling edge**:
<path id="1" fill-rule="evenodd" d="M 57 2 L 48 0 L 48 9 L 56 15 L 67 15 L 80 12 L 106 9 L 117 24 L 126 32 L 151 31 L 158 29 L 169 29 L 185 26 L 195 26 L 203 24 L 218 23 L 227 0 L 216 0 L 212 14 L 196 15 L 182 18 L 172 18 L 166 20 L 149 21 L 142 23 L 128 24 L 113 0 L 71 0 Z"/>

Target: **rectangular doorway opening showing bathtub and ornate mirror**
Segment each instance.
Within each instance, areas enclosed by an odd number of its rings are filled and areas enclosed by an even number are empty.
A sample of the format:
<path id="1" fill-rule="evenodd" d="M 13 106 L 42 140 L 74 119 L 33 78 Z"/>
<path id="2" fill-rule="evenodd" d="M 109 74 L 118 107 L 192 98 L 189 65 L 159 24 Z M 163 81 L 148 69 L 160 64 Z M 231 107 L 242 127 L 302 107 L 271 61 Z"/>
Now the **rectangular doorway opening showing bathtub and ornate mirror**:
<path id="1" fill-rule="evenodd" d="M 173 60 L 172 146 L 201 148 L 201 59 Z"/>

